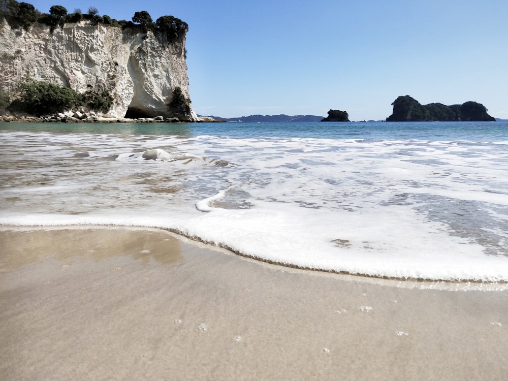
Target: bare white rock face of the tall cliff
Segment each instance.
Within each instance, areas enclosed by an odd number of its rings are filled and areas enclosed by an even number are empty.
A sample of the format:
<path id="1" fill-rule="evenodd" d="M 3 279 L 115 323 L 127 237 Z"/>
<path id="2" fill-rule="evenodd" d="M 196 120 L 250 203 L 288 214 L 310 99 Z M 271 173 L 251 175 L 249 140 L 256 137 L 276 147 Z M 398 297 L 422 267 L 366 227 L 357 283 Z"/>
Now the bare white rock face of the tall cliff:
<path id="1" fill-rule="evenodd" d="M 130 33 L 121 28 L 66 23 L 50 33 L 47 25 L 28 31 L 0 25 L 0 86 L 12 91 L 27 77 L 84 92 L 108 90 L 114 98 L 107 114 L 114 117 L 171 117 L 168 104 L 180 87 L 189 97 L 185 37 L 168 44 L 151 31 Z M 197 120 L 196 113 L 180 120 Z"/>

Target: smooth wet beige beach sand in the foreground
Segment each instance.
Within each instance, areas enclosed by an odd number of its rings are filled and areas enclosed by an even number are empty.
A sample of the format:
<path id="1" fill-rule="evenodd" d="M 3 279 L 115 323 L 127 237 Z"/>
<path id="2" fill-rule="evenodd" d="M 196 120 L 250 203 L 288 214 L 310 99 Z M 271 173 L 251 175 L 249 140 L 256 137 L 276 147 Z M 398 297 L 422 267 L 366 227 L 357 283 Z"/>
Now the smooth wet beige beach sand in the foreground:
<path id="1" fill-rule="evenodd" d="M 2 380 L 501 380 L 508 291 L 290 269 L 161 230 L 2 228 Z"/>

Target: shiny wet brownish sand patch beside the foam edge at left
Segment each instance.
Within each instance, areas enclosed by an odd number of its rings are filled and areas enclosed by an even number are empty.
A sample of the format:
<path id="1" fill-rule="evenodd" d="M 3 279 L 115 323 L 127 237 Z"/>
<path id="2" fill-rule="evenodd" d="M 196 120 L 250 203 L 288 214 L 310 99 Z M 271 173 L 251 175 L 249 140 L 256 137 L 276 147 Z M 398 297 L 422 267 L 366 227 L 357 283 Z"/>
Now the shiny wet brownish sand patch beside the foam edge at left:
<path id="1" fill-rule="evenodd" d="M 47 260 L 70 265 L 75 262 L 102 261 L 113 257 L 132 256 L 137 262 L 151 260 L 163 265 L 182 261 L 180 240 L 161 230 L 131 230 L 114 228 L 86 229 L 34 228 L 0 231 L 3 272 Z M 114 239 L 111 239 L 111 235 Z M 86 237 L 86 240 L 83 240 Z"/>

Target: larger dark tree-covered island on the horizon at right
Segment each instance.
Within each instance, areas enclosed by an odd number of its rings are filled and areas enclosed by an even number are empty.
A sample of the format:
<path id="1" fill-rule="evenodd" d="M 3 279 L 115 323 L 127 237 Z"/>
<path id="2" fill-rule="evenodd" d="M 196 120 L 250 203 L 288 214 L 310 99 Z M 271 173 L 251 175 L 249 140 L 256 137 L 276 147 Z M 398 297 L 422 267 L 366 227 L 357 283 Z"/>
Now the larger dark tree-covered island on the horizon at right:
<path id="1" fill-rule="evenodd" d="M 484 105 L 477 102 L 466 102 L 462 105 L 446 106 L 442 103 L 421 105 L 410 96 L 400 96 L 393 103 L 393 112 L 386 121 L 495 121 L 487 114 Z"/>

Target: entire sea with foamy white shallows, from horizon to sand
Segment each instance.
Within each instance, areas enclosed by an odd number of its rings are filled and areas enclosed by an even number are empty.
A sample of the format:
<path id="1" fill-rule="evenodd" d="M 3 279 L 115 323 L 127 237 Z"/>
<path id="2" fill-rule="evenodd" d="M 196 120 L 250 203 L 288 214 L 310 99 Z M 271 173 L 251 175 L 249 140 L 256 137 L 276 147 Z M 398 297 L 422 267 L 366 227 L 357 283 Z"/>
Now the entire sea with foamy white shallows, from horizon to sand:
<path id="1" fill-rule="evenodd" d="M 0 123 L 0 225 L 161 228 L 290 267 L 508 281 L 508 122 Z"/>

